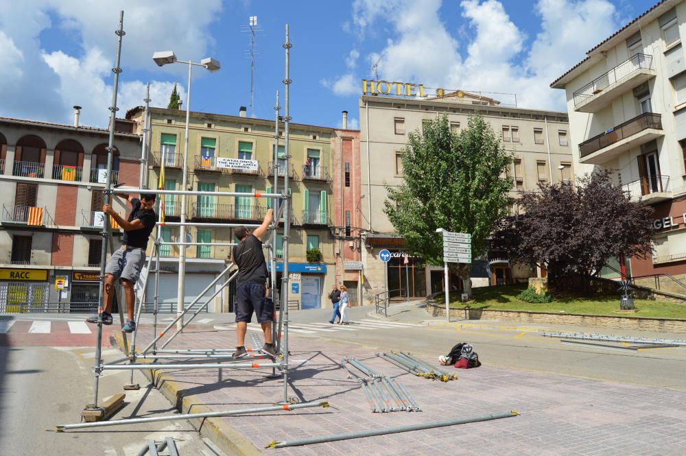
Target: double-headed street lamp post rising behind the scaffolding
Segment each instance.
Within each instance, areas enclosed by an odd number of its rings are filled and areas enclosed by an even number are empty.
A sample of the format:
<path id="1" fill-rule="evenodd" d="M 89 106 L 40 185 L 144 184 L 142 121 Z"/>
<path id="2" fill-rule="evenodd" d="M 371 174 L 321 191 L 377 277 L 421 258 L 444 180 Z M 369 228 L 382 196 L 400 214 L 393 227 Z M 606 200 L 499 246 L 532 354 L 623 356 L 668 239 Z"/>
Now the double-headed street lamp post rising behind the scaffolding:
<path id="1" fill-rule="evenodd" d="M 189 128 L 189 121 L 191 118 L 191 70 L 193 69 L 193 65 L 196 65 L 196 67 L 203 67 L 204 69 L 207 69 L 211 71 L 212 73 L 217 71 L 218 69 L 221 68 L 220 62 L 217 62 L 217 60 L 208 57 L 200 60 L 200 63 L 198 62 L 192 62 L 191 60 L 178 60 L 176 58 L 176 54 L 174 54 L 174 51 L 159 51 L 156 52 L 152 55 L 152 60 L 157 64 L 158 67 L 162 67 L 163 65 L 169 64 L 169 63 L 183 63 L 188 65 L 188 86 L 187 86 L 187 93 L 186 93 L 186 128 L 185 128 L 185 134 L 184 134 L 184 140 L 183 140 L 183 169 L 182 169 L 182 184 L 181 184 L 181 189 L 182 190 L 187 190 L 187 184 L 188 184 L 188 128 Z M 181 229 L 179 233 L 179 238 L 182 239 L 183 242 L 186 241 L 186 197 L 182 196 L 181 197 Z M 177 315 L 180 315 L 184 309 L 184 300 L 185 300 L 185 278 L 186 278 L 186 249 L 181 248 L 179 250 L 179 255 L 178 255 L 178 297 L 177 297 L 177 302 L 176 302 L 176 313 Z M 177 324 L 177 328 L 181 329 L 183 327 L 183 322 L 179 320 Z"/>

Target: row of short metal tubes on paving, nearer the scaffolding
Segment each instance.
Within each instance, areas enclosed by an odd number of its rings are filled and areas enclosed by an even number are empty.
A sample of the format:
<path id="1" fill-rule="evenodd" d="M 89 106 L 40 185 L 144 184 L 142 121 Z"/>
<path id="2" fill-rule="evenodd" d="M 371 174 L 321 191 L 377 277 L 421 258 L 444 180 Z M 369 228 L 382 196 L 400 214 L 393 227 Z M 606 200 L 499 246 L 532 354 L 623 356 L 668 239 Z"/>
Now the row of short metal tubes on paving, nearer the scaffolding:
<path id="1" fill-rule="evenodd" d="M 353 372 L 348 365 L 352 365 L 359 372 L 362 372 L 364 376 Z M 372 412 L 422 410 L 401 383 L 379 374 L 379 372 L 358 359 L 344 357 L 341 360 L 341 367 L 348 371 L 348 379 L 357 379 L 357 383 L 362 387 Z"/>

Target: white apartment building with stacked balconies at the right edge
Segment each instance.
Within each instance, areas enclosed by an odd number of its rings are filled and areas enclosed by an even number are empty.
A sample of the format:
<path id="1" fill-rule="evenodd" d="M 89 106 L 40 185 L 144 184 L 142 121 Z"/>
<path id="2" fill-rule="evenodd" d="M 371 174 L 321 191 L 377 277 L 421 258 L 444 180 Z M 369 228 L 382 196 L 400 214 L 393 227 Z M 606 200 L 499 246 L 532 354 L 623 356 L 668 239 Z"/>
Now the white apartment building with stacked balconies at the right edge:
<path id="1" fill-rule="evenodd" d="M 686 278 L 686 2 L 664 0 L 554 81 L 564 89 L 577 172 L 612 169 L 654 208 L 654 250 L 622 267 Z M 639 279 L 639 282 L 641 280 Z"/>

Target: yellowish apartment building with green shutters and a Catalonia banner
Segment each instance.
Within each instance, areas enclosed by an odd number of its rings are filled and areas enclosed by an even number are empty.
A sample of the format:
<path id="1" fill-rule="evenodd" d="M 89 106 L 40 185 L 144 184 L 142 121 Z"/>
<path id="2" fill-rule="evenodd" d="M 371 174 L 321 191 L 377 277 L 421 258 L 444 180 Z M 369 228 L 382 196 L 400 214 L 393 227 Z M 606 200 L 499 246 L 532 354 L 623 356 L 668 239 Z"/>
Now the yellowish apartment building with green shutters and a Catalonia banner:
<path id="1" fill-rule="evenodd" d="M 147 163 L 147 184 L 157 187 L 164 165 L 165 189 L 180 190 L 185 142 L 186 113 L 182 110 L 150 108 Z M 134 121 L 136 131 L 143 129 L 145 110 L 133 108 L 126 118 Z M 248 195 L 256 191 L 281 191 L 283 176 L 288 173 L 293 202 L 292 230 L 289 239 L 289 300 L 293 308 L 318 309 L 327 306 L 327 289 L 334 283 L 334 242 L 330 208 L 333 204 L 331 157 L 334 130 L 316 125 L 290 123 L 290 165 L 285 166 L 283 123 L 279 124 L 279 147 L 274 162 L 274 120 L 246 117 L 245 108 L 239 115 L 219 115 L 191 112 L 189 122 L 189 145 L 187 151 L 188 189 L 198 191 L 229 191 L 246 193 L 246 197 L 199 196 L 187 197 L 187 221 L 193 223 L 259 224 L 265 211 L 274 202 Z M 225 158 L 257 161 L 255 169 L 231 169 L 224 167 Z M 279 176 L 278 184 L 274 174 Z M 166 195 L 165 221 L 180 219 L 181 197 Z M 283 224 L 282 224 L 283 225 Z M 179 230 L 161 227 L 165 241 L 178 240 Z M 207 243 L 235 242 L 232 228 L 207 228 L 191 226 L 187 229 L 187 241 Z M 276 256 L 281 259 L 283 236 L 276 239 Z M 307 252 L 318 250 L 316 261 L 308 261 Z M 152 245 L 149 249 L 152 252 Z M 186 252 L 185 300 L 191 302 L 224 269 L 224 260 L 231 248 L 220 245 L 191 246 Z M 178 256 L 176 246 L 161 248 L 161 274 L 159 300 L 176 305 L 178 283 Z M 310 259 L 314 257 L 310 255 Z M 281 284 L 283 262 L 276 266 L 278 283 Z M 153 290 L 148 284 L 149 293 Z M 224 290 L 209 311 L 233 311 L 233 286 Z M 150 294 L 152 296 L 152 294 Z M 329 302 L 329 306 L 331 303 Z"/>

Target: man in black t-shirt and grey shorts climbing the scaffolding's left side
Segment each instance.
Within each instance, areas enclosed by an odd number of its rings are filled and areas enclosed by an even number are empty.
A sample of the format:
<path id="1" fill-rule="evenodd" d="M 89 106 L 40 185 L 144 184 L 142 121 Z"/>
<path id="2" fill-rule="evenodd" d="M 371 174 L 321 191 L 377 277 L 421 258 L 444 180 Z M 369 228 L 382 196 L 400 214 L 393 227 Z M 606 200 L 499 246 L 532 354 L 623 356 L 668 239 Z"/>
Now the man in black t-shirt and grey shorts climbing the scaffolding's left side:
<path id="1" fill-rule="evenodd" d="M 126 324 L 121 329 L 126 333 L 132 333 L 136 331 L 136 322 L 133 315 L 136 302 L 134 285 L 138 282 L 138 278 L 141 276 L 141 269 L 145 265 L 147 240 L 150 238 L 150 233 L 155 228 L 157 221 L 157 215 L 153 209 L 156 195 L 141 193 L 140 200 L 130 195 L 121 196 L 126 197 L 126 200 L 133 207 L 128 219 L 124 220 L 109 204 L 102 206 L 105 216 L 111 216 L 124 230 L 124 235 L 122 237 L 123 245 L 121 249 L 112 254 L 110 261 L 108 261 L 105 267 L 103 296 L 105 307 L 104 309 L 99 309 L 99 312 L 102 313 L 102 324 L 112 324 L 111 312 L 114 285 L 115 280 L 121 278 L 121 283 L 124 287 L 124 298 L 126 299 L 126 312 L 128 314 L 128 320 L 126 320 Z M 98 315 L 86 318 L 86 322 L 97 323 Z"/>

